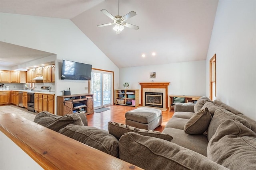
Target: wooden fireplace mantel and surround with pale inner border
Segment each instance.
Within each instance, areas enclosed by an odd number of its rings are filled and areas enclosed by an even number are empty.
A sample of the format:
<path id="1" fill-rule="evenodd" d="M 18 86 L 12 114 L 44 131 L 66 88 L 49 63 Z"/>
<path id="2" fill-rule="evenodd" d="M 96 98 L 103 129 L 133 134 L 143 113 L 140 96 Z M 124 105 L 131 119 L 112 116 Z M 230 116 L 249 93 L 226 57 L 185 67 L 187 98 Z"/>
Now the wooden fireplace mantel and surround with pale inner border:
<path id="1" fill-rule="evenodd" d="M 159 92 L 163 93 L 163 107 L 168 109 L 168 86 L 170 82 L 146 82 L 139 83 L 141 86 L 141 104 L 145 106 L 145 92 Z"/>

